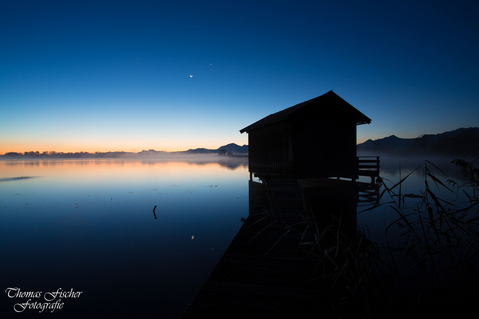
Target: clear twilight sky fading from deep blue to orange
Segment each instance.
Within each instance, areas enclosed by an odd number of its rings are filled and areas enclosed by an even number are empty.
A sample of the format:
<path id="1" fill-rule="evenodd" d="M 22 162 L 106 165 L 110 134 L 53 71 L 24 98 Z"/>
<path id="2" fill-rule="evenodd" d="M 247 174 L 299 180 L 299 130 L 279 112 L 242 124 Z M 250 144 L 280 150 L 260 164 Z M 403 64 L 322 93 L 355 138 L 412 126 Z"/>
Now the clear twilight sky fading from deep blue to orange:
<path id="1" fill-rule="evenodd" d="M 334 92 L 357 142 L 479 126 L 477 1 L 0 2 L 0 153 L 181 151 Z M 193 75 L 193 77 L 190 77 Z"/>

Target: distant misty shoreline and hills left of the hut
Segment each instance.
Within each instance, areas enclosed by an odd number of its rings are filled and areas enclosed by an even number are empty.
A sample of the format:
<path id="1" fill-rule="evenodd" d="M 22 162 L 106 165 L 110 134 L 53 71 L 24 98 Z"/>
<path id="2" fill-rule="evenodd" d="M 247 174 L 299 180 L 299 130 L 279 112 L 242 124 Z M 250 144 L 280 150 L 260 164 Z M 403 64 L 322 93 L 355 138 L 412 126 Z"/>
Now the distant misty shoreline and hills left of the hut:
<path id="1" fill-rule="evenodd" d="M 223 152 L 221 152 L 224 150 Z M 218 147 L 217 149 L 196 148 L 189 149 L 187 151 L 179 152 L 165 152 L 165 151 L 141 151 L 138 153 L 133 152 L 75 152 L 75 153 L 63 153 L 63 152 L 24 152 L 16 153 L 10 152 L 4 155 L 0 155 L 0 158 L 125 158 L 125 157 L 171 157 L 190 154 L 248 154 L 248 145 L 239 146 L 235 143 L 229 143 Z"/>

